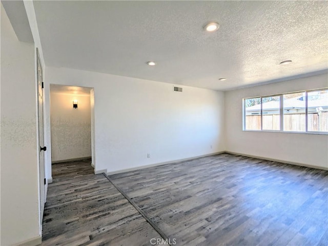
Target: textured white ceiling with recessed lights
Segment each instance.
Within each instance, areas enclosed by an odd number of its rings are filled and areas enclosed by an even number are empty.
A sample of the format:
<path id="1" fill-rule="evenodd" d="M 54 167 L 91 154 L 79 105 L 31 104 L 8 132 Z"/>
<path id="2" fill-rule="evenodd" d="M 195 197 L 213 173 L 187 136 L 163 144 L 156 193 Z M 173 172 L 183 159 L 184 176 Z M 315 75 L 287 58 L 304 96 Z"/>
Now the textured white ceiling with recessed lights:
<path id="1" fill-rule="evenodd" d="M 327 1 L 33 3 L 48 66 L 222 91 L 328 68 Z"/>

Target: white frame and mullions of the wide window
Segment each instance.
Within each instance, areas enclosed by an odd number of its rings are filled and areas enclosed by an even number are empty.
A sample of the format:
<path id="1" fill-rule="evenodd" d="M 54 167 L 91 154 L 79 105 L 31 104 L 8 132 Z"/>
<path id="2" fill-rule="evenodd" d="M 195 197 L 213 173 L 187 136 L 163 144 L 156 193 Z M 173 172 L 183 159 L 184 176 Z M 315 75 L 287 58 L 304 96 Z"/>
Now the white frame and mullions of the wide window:
<path id="1" fill-rule="evenodd" d="M 280 93 L 280 94 L 272 94 L 272 95 L 265 95 L 265 96 L 254 96 L 254 97 L 245 97 L 242 99 L 242 131 L 256 131 L 256 132 L 282 132 L 282 133 L 299 133 L 299 134 L 317 134 L 317 135 L 328 135 L 328 131 L 309 131 L 308 130 L 308 93 L 311 92 L 319 92 L 319 91 L 326 91 L 328 90 L 328 87 L 323 88 L 317 88 L 317 89 L 311 89 L 311 90 L 302 90 L 302 91 L 296 91 L 296 92 L 287 92 L 287 93 Z M 305 93 L 305 131 L 285 131 L 283 130 L 283 95 L 286 94 L 293 94 L 293 93 Z M 280 115 L 280 130 L 263 130 L 263 101 L 262 98 L 267 97 L 278 97 L 280 98 L 280 104 L 279 104 L 279 115 Z M 260 130 L 247 130 L 246 129 L 246 107 L 245 107 L 245 100 L 247 99 L 253 99 L 253 98 L 260 98 L 261 101 L 261 110 L 260 110 L 260 116 L 261 116 L 261 129 Z"/>

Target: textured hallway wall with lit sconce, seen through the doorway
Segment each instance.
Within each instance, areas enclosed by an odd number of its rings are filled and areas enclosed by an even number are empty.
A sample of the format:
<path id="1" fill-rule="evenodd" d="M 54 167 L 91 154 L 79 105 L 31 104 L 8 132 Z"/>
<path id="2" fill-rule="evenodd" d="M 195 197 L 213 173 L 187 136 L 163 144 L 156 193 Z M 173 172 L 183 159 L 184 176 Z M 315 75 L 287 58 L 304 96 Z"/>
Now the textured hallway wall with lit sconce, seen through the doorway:
<path id="1" fill-rule="evenodd" d="M 73 108 L 73 100 L 78 101 Z M 91 156 L 90 95 L 51 93 L 51 161 Z"/>

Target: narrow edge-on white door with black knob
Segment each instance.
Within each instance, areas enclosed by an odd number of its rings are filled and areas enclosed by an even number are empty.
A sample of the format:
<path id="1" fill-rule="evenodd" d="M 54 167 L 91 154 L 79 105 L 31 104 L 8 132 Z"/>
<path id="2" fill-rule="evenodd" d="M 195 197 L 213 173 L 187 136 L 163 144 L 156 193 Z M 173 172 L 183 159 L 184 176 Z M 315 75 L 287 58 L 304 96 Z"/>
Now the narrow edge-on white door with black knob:
<path id="1" fill-rule="evenodd" d="M 43 132 L 43 83 L 42 83 L 42 66 L 40 63 L 40 57 L 38 49 L 37 54 L 37 93 L 38 93 L 38 124 L 39 124 L 39 172 L 40 172 L 40 223 L 42 223 L 43 212 L 45 209 L 45 158 L 44 151 L 47 147 L 44 146 L 44 132 Z"/>

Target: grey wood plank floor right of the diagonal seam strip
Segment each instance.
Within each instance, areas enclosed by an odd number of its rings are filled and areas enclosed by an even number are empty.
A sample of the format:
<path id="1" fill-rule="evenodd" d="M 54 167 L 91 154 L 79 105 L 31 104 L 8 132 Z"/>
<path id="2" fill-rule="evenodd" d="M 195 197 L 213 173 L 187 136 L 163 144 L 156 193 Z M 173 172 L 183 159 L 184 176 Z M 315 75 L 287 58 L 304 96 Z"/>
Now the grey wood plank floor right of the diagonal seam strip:
<path id="1" fill-rule="evenodd" d="M 328 245 L 328 172 L 220 154 L 110 176 L 177 245 Z"/>

